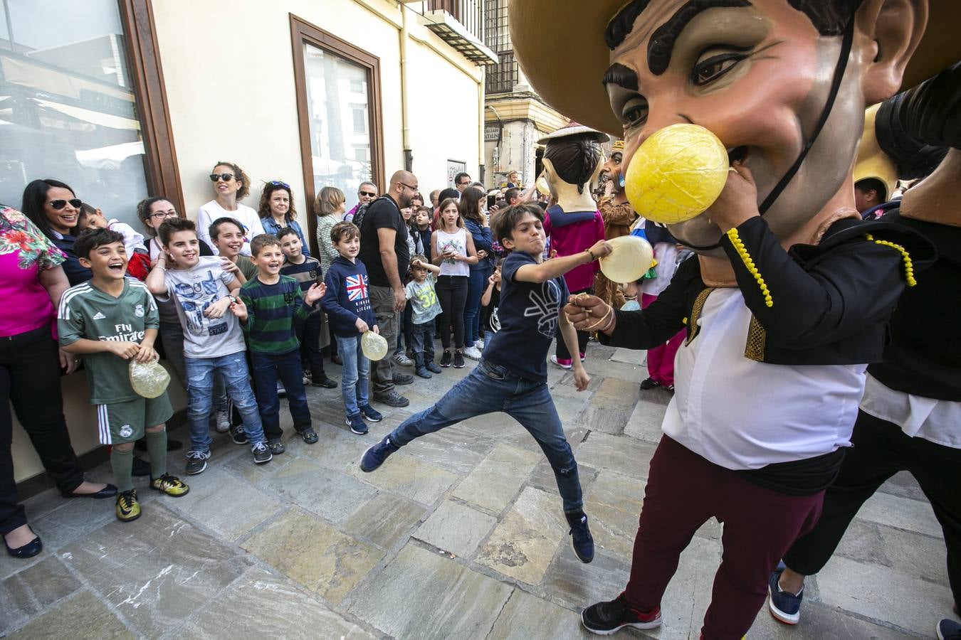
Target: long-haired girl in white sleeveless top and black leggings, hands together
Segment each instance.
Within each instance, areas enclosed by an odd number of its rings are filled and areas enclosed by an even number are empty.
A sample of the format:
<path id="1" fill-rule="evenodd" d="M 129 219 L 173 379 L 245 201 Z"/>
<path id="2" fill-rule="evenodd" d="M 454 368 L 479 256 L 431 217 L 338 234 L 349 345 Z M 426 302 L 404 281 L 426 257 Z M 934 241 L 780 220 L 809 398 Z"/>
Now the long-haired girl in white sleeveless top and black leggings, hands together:
<path id="1" fill-rule="evenodd" d="M 440 358 L 441 367 L 450 367 L 451 330 L 454 327 L 456 348 L 453 364 L 464 366 L 464 303 L 467 301 L 467 281 L 470 279 L 470 265 L 478 262 L 474 250 L 474 239 L 464 229 L 457 201 L 453 198 L 440 203 L 440 225 L 433 232 L 433 264 L 440 267 L 435 287 L 440 308 L 443 311 L 437 320 L 440 343 L 444 354 Z"/>

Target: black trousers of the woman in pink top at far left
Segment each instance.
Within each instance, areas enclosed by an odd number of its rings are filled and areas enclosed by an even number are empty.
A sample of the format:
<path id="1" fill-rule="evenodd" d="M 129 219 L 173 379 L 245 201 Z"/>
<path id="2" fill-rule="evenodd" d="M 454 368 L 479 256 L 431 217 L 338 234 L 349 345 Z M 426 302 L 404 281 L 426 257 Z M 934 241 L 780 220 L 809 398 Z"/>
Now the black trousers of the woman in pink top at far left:
<path id="1" fill-rule="evenodd" d="M 27 524 L 13 482 L 11 405 L 61 493 L 84 482 L 84 469 L 70 446 L 63 419 L 61 368 L 50 326 L 0 338 L 0 533 Z"/>

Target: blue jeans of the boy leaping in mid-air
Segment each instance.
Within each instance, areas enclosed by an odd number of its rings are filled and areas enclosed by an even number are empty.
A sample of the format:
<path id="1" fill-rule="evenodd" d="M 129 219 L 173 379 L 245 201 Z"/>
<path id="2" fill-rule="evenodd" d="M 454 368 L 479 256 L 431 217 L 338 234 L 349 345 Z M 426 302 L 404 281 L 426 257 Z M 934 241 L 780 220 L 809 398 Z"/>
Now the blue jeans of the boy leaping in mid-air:
<path id="1" fill-rule="evenodd" d="M 391 441 L 404 446 L 456 422 L 475 415 L 502 411 L 521 423 L 537 440 L 551 468 L 564 511 L 583 508 L 578 462 L 567 443 L 560 417 L 547 384 L 525 380 L 504 367 L 481 359 L 466 378 L 444 394 L 430 409 L 411 415 L 390 433 Z"/>

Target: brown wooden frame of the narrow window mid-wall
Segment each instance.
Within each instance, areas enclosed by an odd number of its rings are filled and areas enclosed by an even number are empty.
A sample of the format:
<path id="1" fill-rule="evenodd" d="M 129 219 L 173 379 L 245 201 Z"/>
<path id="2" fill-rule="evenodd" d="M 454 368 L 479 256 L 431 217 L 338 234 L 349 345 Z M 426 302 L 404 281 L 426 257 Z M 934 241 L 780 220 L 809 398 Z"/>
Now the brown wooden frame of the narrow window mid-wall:
<path id="1" fill-rule="evenodd" d="M 304 198 L 307 201 L 308 243 L 317 254 L 317 216 L 313 204 L 317 194 L 313 187 L 313 161 L 310 153 L 310 120 L 307 98 L 307 71 L 304 66 L 304 45 L 348 59 L 367 70 L 367 119 L 370 136 L 371 179 L 378 185 L 384 182 L 383 171 L 383 115 L 381 107 L 381 59 L 357 48 L 320 27 L 310 24 L 293 13 L 290 16 L 290 39 L 293 49 L 294 85 L 297 92 L 297 122 L 300 128 L 301 166 L 304 171 Z"/>

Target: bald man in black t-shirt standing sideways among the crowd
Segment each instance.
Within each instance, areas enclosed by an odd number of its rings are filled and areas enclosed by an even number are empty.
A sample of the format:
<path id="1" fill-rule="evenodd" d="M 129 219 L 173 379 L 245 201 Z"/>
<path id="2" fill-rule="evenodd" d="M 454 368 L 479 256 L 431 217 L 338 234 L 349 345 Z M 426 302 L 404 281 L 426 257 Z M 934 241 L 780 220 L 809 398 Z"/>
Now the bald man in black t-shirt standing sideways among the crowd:
<path id="1" fill-rule="evenodd" d="M 417 195 L 417 178 L 398 171 L 390 178 L 386 195 L 370 203 L 360 221 L 360 260 L 370 280 L 370 301 L 377 325 L 387 344 L 397 343 L 397 314 L 407 305 L 403 275 L 410 262 L 407 225 L 401 209 Z M 391 407 L 407 407 L 410 401 L 394 391 L 394 385 L 409 385 L 413 376 L 394 371 L 391 358 L 383 358 L 371 373 L 374 399 Z"/>

